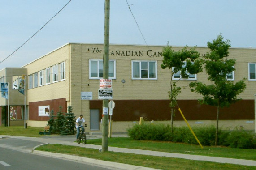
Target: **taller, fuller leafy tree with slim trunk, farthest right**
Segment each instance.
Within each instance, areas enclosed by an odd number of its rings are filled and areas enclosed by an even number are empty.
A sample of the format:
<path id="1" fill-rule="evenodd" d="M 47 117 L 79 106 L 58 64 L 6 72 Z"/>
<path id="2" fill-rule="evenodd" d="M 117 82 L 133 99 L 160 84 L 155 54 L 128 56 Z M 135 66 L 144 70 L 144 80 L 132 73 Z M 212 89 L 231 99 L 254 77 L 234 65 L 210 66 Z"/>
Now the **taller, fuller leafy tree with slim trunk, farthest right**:
<path id="1" fill-rule="evenodd" d="M 206 85 L 201 82 L 192 82 L 189 86 L 192 92 L 203 95 L 203 99 L 199 99 L 201 104 L 217 107 L 215 136 L 215 145 L 217 145 L 220 107 L 229 107 L 231 103 L 241 100 L 237 96 L 244 91 L 246 85 L 245 78 L 236 83 L 226 79 L 226 75 L 235 70 L 235 59 L 227 59 L 230 41 L 224 41 L 220 34 L 212 43 L 208 42 L 207 46 L 210 52 L 205 55 L 205 70 L 208 74 L 208 80 L 212 84 Z"/>

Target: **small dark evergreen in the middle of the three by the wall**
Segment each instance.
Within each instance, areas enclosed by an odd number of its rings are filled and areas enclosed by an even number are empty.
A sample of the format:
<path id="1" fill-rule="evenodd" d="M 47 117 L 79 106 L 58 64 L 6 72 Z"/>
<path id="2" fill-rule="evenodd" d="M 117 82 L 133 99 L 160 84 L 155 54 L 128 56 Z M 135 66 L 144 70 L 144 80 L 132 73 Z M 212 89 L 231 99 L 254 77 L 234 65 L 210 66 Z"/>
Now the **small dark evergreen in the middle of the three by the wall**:
<path id="1" fill-rule="evenodd" d="M 65 130 L 66 117 L 64 112 L 61 111 L 62 106 L 59 106 L 59 111 L 57 112 L 57 118 L 54 121 L 53 131 L 57 134 L 60 134 Z"/>

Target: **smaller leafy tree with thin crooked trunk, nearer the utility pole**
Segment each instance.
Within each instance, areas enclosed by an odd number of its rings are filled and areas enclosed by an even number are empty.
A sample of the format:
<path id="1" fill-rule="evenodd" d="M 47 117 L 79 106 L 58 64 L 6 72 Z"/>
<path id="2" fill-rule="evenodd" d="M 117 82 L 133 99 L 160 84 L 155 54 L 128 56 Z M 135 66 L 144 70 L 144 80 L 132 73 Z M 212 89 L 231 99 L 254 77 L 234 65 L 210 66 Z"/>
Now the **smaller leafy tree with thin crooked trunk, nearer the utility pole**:
<path id="1" fill-rule="evenodd" d="M 187 79 L 189 78 L 189 73 L 196 74 L 203 70 L 203 60 L 200 58 L 200 53 L 196 51 L 196 47 L 188 50 L 186 46 L 180 51 L 174 51 L 172 47 L 169 46 L 169 43 L 167 44 L 167 47 L 163 48 L 162 55 L 164 58 L 162 61 L 163 63 L 161 64 L 161 68 L 169 68 L 171 71 L 171 89 L 169 90 L 168 94 L 170 100 L 169 106 L 171 107 L 171 131 L 173 132 L 173 117 L 175 114 L 174 107 L 176 106 L 175 101 L 178 97 L 178 94 L 181 93 L 181 87 L 176 85 L 178 81 L 173 80 L 173 75 L 177 72 L 180 72 L 182 79 Z"/>

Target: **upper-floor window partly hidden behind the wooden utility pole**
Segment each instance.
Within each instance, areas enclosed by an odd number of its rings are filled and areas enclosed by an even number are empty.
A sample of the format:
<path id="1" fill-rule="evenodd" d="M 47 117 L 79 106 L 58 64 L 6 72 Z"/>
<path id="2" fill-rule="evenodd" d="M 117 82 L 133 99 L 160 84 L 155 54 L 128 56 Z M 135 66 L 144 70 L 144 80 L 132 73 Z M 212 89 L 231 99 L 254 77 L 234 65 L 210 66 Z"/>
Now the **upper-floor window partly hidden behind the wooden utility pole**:
<path id="1" fill-rule="evenodd" d="M 116 60 L 109 60 L 108 77 L 110 79 L 116 78 Z M 89 78 L 90 79 L 103 78 L 103 59 L 89 60 Z"/>

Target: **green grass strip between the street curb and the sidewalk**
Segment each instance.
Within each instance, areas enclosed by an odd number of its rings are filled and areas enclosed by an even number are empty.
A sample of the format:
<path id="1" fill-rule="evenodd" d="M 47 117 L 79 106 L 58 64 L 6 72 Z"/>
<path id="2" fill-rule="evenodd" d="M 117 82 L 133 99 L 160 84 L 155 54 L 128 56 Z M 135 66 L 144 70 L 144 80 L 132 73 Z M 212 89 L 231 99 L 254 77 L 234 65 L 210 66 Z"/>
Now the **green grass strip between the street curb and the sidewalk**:
<path id="1" fill-rule="evenodd" d="M 209 161 L 194 161 L 180 158 L 155 157 L 110 151 L 99 153 L 97 149 L 80 148 L 61 144 L 47 144 L 40 146 L 36 150 L 77 155 L 104 161 L 114 161 L 164 170 L 255 170 L 255 166 L 241 166 Z"/>

